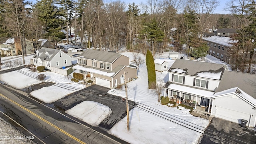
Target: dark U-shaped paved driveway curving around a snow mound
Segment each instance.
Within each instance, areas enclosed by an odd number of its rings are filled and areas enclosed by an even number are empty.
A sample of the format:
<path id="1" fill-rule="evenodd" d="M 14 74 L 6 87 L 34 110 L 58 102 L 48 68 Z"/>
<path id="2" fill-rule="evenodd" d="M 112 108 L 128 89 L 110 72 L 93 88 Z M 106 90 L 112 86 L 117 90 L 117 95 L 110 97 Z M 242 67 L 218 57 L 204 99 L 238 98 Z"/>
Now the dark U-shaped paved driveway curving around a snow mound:
<path id="1" fill-rule="evenodd" d="M 112 113 L 108 118 L 99 124 L 99 127 L 109 130 L 114 126 L 114 124 L 126 116 L 126 103 L 119 96 L 109 95 L 107 93 L 108 90 L 110 89 L 98 85 L 92 85 L 78 92 L 74 92 L 73 94 L 62 98 L 53 104 L 65 111 L 76 106 L 76 104 L 80 104 L 83 101 L 94 101 L 104 104 L 105 106 L 111 108 Z M 133 104 L 134 106 L 136 105 L 135 103 Z M 129 109 L 131 110 L 134 108 L 134 106 L 129 104 Z"/>

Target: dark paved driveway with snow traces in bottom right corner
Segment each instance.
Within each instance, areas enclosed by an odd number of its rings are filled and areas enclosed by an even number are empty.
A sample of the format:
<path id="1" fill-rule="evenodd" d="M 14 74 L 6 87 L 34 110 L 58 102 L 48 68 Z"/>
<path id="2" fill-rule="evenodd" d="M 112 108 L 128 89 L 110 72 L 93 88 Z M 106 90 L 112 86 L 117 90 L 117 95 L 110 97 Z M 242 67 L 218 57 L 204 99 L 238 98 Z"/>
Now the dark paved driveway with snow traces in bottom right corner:
<path id="1" fill-rule="evenodd" d="M 239 124 L 212 118 L 200 144 L 256 144 L 256 132 Z"/>

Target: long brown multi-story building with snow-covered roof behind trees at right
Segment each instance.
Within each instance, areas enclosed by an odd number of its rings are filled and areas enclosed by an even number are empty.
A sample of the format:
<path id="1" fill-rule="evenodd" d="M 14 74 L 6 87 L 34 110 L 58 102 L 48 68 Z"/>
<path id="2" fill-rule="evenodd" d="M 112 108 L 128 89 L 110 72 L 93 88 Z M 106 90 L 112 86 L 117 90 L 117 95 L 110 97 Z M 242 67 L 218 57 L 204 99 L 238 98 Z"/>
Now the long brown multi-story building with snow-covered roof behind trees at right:
<path id="1" fill-rule="evenodd" d="M 225 36 L 209 36 L 206 38 L 203 37 L 202 39 L 209 46 L 208 54 L 229 63 L 230 54 L 228 50 L 232 47 L 232 43 L 236 43 L 237 40 L 232 41 L 229 37 Z"/>

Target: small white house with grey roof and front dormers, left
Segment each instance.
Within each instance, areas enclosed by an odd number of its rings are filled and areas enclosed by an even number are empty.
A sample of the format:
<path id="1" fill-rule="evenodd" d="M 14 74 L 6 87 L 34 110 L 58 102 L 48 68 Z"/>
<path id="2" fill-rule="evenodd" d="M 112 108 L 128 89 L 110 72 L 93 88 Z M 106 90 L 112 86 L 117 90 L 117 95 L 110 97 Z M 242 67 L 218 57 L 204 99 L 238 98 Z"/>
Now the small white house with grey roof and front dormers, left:
<path id="1" fill-rule="evenodd" d="M 36 54 L 32 59 L 35 66 L 45 66 L 48 70 L 51 70 L 52 67 L 62 68 L 71 66 L 71 57 L 62 52 L 62 50 L 53 48 L 36 50 Z"/>

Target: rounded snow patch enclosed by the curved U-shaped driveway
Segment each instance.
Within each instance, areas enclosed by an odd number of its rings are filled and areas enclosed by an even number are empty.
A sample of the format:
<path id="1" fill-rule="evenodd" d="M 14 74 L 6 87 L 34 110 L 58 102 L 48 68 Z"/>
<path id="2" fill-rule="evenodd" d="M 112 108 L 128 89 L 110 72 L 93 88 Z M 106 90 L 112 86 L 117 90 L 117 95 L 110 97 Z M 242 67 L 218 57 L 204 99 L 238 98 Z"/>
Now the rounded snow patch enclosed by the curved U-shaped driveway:
<path id="1" fill-rule="evenodd" d="M 71 116 L 79 118 L 92 126 L 100 124 L 104 119 L 110 116 L 111 112 L 112 110 L 108 106 L 93 101 L 81 102 L 66 111 L 66 113 Z"/>

